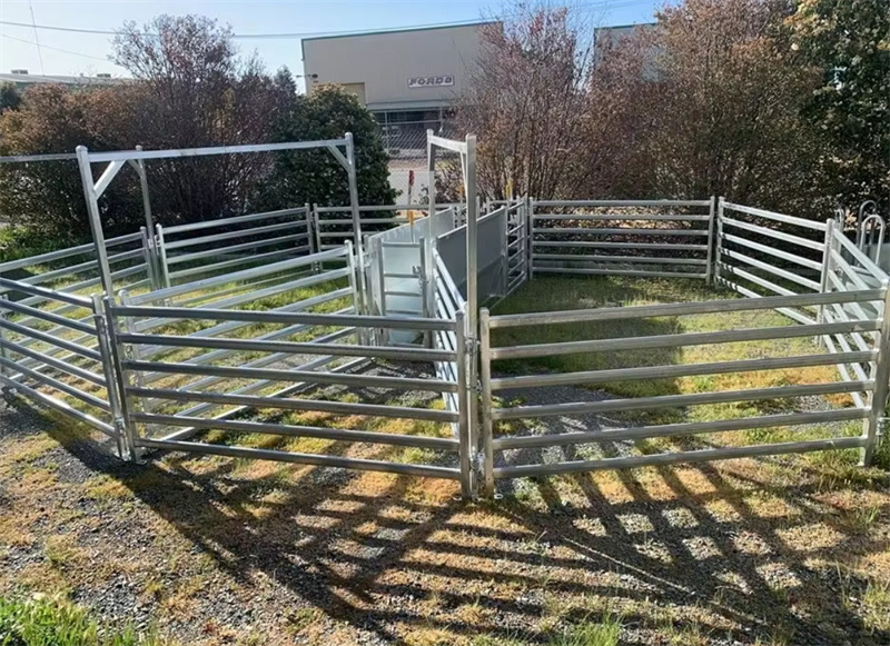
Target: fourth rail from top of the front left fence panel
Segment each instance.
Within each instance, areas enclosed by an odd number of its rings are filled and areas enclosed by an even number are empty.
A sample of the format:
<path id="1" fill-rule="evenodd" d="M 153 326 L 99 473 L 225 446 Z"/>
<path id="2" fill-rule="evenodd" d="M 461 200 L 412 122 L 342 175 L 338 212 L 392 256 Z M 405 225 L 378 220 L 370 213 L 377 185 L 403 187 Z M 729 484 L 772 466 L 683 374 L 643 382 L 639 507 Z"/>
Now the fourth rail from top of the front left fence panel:
<path id="1" fill-rule="evenodd" d="M 202 401 L 222 406 L 246 406 L 248 408 L 276 408 L 280 410 L 317 410 L 339 415 L 364 415 L 368 417 L 395 417 L 403 419 L 426 419 L 429 421 L 457 421 L 457 416 L 448 410 L 433 408 L 412 408 L 405 406 L 383 406 L 374 404 L 354 404 L 347 401 L 327 401 L 324 399 L 281 399 L 257 397 L 253 395 L 230 395 L 222 392 L 205 392 L 169 388 L 127 388 L 130 395 L 151 397 L 170 401 Z M 146 421 L 145 419 L 142 421 Z M 172 426 L 194 426 L 191 424 Z M 362 431 L 365 433 L 365 431 Z M 392 434 L 380 434 L 390 437 Z"/>

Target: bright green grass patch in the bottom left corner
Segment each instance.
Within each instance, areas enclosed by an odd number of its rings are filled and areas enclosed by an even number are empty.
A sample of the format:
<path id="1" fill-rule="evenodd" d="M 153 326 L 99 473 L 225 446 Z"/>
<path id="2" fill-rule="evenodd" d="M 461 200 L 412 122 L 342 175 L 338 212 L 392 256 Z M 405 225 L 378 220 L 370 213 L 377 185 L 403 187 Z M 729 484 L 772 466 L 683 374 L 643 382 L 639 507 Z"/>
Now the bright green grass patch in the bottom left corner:
<path id="1" fill-rule="evenodd" d="M 2 646 L 164 646 L 152 633 L 103 626 L 61 597 L 0 597 Z"/>

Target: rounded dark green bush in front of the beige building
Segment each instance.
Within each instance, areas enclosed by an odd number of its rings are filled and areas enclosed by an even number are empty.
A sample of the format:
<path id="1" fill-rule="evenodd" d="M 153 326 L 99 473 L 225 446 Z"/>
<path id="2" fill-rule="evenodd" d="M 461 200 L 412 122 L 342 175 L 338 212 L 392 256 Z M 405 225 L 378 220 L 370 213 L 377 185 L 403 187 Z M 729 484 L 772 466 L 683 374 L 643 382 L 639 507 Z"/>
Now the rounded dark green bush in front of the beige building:
<path id="1" fill-rule="evenodd" d="M 279 83 L 285 85 L 286 80 L 280 78 Z M 310 97 L 295 97 L 290 110 L 277 122 L 275 138 L 277 141 L 340 139 L 345 132 L 352 132 L 355 142 L 359 202 L 395 203 L 396 191 L 389 186 L 388 156 L 380 128 L 354 95 L 337 86 L 318 86 Z M 268 208 L 306 202 L 348 205 L 346 171 L 327 150 L 278 153 L 260 200 Z"/>

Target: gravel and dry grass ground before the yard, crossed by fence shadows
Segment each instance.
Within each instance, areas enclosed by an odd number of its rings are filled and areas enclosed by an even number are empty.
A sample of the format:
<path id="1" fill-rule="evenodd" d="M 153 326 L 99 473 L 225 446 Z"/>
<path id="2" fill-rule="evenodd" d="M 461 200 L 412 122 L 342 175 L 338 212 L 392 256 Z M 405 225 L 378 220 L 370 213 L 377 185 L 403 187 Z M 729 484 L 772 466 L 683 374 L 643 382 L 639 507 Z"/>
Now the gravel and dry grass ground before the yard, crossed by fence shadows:
<path id="1" fill-rule="evenodd" d="M 605 398 L 560 390 L 505 396 Z M 517 433 L 619 426 L 553 418 Z M 514 497 L 469 504 L 452 483 L 380 474 L 181 454 L 123 464 L 4 405 L 0 592 L 65 587 L 108 622 L 208 646 L 546 643 L 603 612 L 623 616 L 622 644 L 888 644 L 867 594 L 883 580 L 869 575 L 890 572 L 887 478 L 825 478 L 792 460 L 735 460 L 521 480 Z"/>

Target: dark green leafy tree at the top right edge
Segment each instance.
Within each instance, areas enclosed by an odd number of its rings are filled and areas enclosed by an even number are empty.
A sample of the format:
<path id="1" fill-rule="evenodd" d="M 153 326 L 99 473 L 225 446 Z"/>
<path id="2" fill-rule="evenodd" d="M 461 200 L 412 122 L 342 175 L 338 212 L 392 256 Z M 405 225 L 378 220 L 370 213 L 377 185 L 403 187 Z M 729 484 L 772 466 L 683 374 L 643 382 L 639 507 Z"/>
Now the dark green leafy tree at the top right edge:
<path id="1" fill-rule="evenodd" d="M 825 133 L 825 156 L 850 207 L 890 210 L 890 0 L 800 0 L 788 20 L 794 47 L 820 74 L 803 109 Z"/>

